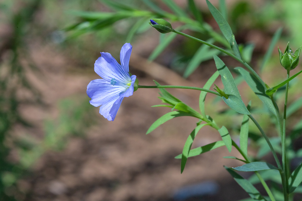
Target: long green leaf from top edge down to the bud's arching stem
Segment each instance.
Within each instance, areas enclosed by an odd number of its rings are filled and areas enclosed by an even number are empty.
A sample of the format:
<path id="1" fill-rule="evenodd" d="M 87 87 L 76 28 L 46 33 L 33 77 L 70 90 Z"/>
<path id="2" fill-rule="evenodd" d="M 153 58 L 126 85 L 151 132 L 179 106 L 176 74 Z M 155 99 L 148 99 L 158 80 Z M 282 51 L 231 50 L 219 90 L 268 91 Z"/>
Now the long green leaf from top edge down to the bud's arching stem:
<path id="1" fill-rule="evenodd" d="M 237 42 L 235 40 L 235 36 L 231 30 L 230 25 L 226 22 L 226 20 L 223 18 L 221 13 L 215 8 L 208 0 L 207 5 L 210 9 L 211 14 L 213 15 L 214 19 L 216 20 L 221 32 L 223 33 L 223 36 L 226 37 L 227 41 L 230 43 L 231 49 L 233 50 L 234 54 L 241 58 L 241 54 L 237 45 Z"/>

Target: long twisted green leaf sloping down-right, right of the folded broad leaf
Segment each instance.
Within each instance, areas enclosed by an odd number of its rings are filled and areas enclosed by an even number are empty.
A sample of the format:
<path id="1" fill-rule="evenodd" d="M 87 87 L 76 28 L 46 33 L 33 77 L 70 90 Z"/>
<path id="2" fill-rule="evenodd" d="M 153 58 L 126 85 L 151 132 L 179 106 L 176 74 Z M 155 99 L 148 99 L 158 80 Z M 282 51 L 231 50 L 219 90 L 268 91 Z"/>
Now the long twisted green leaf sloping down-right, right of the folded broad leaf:
<path id="1" fill-rule="evenodd" d="M 236 70 L 242 75 L 243 79 L 252 89 L 252 91 L 258 96 L 258 98 L 263 102 L 263 104 L 275 115 L 277 116 L 275 107 L 270 97 L 265 93 L 265 87 L 248 71 L 241 67 L 236 67 Z"/>

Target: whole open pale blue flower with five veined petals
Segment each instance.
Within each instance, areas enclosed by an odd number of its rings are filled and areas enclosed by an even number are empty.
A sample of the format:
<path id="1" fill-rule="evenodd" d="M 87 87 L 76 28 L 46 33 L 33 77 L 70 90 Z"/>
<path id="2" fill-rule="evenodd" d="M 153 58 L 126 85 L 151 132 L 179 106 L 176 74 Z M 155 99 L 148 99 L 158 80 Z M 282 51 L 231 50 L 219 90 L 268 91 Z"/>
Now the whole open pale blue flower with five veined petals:
<path id="1" fill-rule="evenodd" d="M 135 75 L 129 74 L 129 59 L 132 51 L 130 43 L 120 50 L 120 63 L 108 52 L 101 52 L 95 61 L 95 72 L 103 79 L 92 80 L 87 86 L 87 95 L 91 105 L 100 107 L 100 114 L 113 121 L 124 97 L 134 91 Z"/>

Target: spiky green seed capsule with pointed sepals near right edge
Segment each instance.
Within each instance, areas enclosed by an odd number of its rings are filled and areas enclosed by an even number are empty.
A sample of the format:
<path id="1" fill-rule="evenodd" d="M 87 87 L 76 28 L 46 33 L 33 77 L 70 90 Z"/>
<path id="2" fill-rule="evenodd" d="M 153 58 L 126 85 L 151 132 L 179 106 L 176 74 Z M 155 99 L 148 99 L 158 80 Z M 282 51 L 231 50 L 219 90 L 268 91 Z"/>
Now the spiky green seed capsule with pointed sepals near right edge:
<path id="1" fill-rule="evenodd" d="M 299 56 L 300 56 L 301 47 L 299 47 L 293 53 L 293 51 L 291 50 L 291 48 L 289 46 L 289 42 L 288 42 L 286 49 L 284 51 L 284 54 L 282 54 L 281 50 L 278 47 L 280 63 L 286 70 L 291 71 L 294 68 L 296 68 L 297 65 L 299 64 Z"/>

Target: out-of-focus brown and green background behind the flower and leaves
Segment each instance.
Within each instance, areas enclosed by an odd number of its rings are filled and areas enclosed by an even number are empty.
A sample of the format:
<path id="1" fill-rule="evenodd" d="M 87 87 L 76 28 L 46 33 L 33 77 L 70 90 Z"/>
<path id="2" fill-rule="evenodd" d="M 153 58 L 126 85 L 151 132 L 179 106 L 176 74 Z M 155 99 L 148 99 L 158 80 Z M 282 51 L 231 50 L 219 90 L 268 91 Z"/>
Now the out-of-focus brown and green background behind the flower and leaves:
<path id="1" fill-rule="evenodd" d="M 228 153 L 225 147 L 220 147 L 189 158 L 185 171 L 180 174 L 180 160 L 174 157 L 182 152 L 196 119 L 178 117 L 145 135 L 157 118 L 170 111 L 170 108 L 151 107 L 161 102 L 157 98 L 159 90 L 139 89 L 125 98 L 113 122 L 89 104 L 86 87 L 91 80 L 99 78 L 94 72 L 95 60 L 100 52 L 110 52 L 119 62 L 120 48 L 125 42 L 133 46 L 130 72 L 137 75 L 140 85 L 154 85 L 156 80 L 165 85 L 202 87 L 216 71 L 214 62 L 208 58 L 184 76 L 200 44 L 183 36 L 176 36 L 156 55 L 154 50 L 163 36 L 149 26 L 149 19 L 143 19 L 144 23 L 130 35 L 137 18 L 121 18 L 106 26 L 103 23 L 84 29 L 89 24 L 81 21 L 81 11 L 114 12 L 108 2 L 111 1 L 0 1 L 0 200 L 235 201 L 247 198 L 223 168 L 223 165 L 242 165 L 222 158 L 239 157 L 236 150 Z M 148 10 L 140 0 L 112 2 Z M 152 2 L 172 13 L 164 1 Z M 188 11 L 187 1 L 174 2 Z M 218 1 L 211 2 L 218 6 Z M 206 2 L 196 0 L 195 4 L 203 20 L 220 33 Z M 280 49 L 284 50 L 288 41 L 294 48 L 302 44 L 300 0 L 230 0 L 226 6 L 238 44 L 255 45 L 251 63 L 256 71 L 279 27 L 283 27 L 277 43 Z M 207 38 L 198 32 L 186 33 Z M 233 59 L 222 58 L 230 68 L 239 65 Z M 272 78 L 286 77 L 276 48 L 272 58 L 262 71 L 265 82 L 271 85 Z M 268 74 L 273 68 L 278 70 Z M 299 82 L 297 79 L 294 89 L 298 89 Z M 220 79 L 215 83 L 221 86 Z M 198 91 L 168 91 L 199 109 Z M 242 97 L 260 104 L 244 83 L 239 85 L 239 91 Z M 248 99 L 243 101 L 247 103 Z M 206 102 L 207 113 L 218 125 L 232 130 L 234 140 L 238 139 L 242 116 L 233 115 L 214 96 L 208 95 Z M 265 124 L 267 116 L 257 118 L 270 136 L 276 135 L 270 124 Z M 257 135 L 252 125 L 251 130 Z M 204 127 L 192 148 L 217 140 L 220 135 L 216 130 Z M 250 153 L 255 154 L 258 147 L 259 144 L 251 143 Z M 269 160 L 271 156 L 265 157 Z M 199 193 L 187 192 L 190 186 Z"/>

